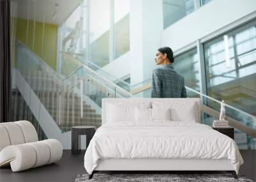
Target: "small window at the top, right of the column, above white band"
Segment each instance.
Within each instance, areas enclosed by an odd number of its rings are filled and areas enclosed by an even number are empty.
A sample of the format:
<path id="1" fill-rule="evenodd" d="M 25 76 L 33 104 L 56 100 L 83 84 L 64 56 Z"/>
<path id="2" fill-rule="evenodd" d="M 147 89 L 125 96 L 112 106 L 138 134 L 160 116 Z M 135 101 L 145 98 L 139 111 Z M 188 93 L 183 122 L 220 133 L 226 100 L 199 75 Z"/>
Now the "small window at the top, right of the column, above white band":
<path id="1" fill-rule="evenodd" d="M 193 11 L 194 0 L 163 0 L 164 29 Z"/>

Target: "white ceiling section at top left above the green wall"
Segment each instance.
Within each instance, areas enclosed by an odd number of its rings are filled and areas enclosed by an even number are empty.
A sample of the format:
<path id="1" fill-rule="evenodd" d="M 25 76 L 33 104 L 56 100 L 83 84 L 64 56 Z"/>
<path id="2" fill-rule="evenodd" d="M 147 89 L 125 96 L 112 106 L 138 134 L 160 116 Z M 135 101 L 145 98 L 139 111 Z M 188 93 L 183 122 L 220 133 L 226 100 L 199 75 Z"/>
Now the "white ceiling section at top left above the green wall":
<path id="1" fill-rule="evenodd" d="M 29 9 L 29 20 L 34 20 L 35 16 L 36 21 L 43 22 L 45 6 L 45 22 L 48 24 L 56 24 L 60 26 L 62 22 L 69 17 L 72 11 L 77 8 L 82 0 L 19 0 L 17 2 L 18 17 L 27 19 Z M 53 18 L 56 11 L 55 4 L 58 4 L 56 19 Z"/>

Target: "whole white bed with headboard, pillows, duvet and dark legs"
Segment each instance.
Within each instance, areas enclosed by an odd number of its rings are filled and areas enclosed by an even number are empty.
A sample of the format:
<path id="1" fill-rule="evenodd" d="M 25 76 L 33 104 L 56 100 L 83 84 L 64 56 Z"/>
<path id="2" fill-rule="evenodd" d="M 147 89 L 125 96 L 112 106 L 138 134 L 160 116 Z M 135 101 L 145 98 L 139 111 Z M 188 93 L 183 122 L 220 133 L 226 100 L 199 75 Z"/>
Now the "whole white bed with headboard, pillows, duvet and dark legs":
<path id="1" fill-rule="evenodd" d="M 102 126 L 84 155 L 90 178 L 97 171 L 230 171 L 237 178 L 242 163 L 234 140 L 200 124 L 197 98 L 103 99 Z"/>

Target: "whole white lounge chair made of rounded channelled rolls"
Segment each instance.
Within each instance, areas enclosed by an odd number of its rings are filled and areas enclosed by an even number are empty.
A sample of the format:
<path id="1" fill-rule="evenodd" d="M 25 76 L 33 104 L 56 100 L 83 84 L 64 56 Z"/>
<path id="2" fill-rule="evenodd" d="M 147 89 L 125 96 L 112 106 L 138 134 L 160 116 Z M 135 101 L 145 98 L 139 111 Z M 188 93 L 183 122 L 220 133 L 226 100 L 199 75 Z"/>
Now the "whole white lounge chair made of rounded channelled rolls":
<path id="1" fill-rule="evenodd" d="M 17 172 L 53 163 L 61 159 L 62 150 L 58 140 L 38 142 L 29 121 L 0 123 L 0 167 L 11 165 Z"/>

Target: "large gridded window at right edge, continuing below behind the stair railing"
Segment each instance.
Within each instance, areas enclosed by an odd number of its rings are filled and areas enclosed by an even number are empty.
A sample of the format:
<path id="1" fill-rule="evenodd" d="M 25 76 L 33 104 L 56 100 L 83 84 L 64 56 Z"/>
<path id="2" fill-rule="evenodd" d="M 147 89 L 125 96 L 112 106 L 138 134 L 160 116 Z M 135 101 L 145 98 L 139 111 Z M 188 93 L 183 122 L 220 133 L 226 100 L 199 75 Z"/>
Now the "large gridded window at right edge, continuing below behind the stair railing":
<path id="1" fill-rule="evenodd" d="M 205 43 L 207 95 L 256 116 L 256 21 Z M 209 107 L 219 110 L 216 103 Z M 256 128 L 253 117 L 226 109 L 227 116 Z M 236 130 L 239 148 L 255 148 L 255 140 Z"/>

